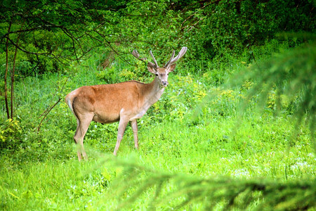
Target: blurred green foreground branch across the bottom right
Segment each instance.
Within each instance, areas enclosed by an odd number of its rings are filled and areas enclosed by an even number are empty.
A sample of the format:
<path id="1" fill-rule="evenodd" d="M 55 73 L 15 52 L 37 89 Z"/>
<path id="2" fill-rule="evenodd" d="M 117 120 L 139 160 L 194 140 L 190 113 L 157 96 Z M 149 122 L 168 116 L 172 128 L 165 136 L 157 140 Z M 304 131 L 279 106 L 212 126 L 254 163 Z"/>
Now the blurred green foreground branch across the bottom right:
<path id="1" fill-rule="evenodd" d="M 150 170 L 131 161 L 110 162 L 124 167 L 112 184 L 114 197 L 129 196 L 119 202 L 117 210 L 136 203 L 145 193 L 152 198 L 150 210 L 196 206 L 203 210 L 308 210 L 316 205 L 315 180 L 203 178 Z"/>

